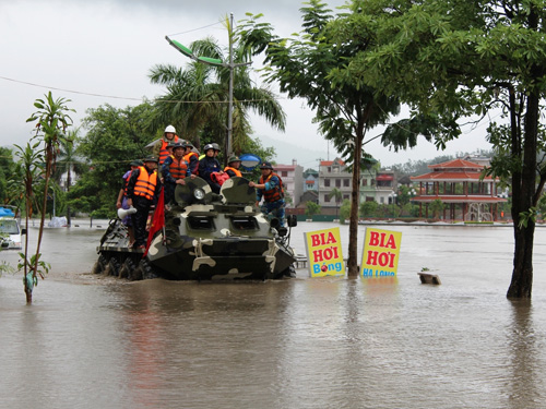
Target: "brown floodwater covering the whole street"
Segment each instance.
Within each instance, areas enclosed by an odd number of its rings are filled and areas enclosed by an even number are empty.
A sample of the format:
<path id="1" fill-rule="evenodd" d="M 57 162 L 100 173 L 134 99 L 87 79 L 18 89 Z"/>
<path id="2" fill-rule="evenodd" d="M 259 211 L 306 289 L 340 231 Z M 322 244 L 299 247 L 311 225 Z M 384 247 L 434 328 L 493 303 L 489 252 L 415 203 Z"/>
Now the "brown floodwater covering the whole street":
<path id="1" fill-rule="evenodd" d="M 378 227 L 402 231 L 397 278 L 250 284 L 94 276 L 102 229 L 46 230 L 33 305 L 0 278 L 0 408 L 544 408 L 546 228 L 511 302 L 511 227 Z"/>

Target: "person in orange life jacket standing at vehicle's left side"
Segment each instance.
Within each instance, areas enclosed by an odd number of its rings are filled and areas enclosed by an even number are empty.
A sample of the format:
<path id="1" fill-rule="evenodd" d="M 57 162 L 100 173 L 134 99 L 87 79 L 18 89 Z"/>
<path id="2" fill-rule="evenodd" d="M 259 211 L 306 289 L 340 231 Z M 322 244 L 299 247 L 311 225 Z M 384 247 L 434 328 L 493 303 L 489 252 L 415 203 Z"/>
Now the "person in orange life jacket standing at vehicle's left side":
<path id="1" fill-rule="evenodd" d="M 161 180 L 157 176 L 157 158 L 149 156 L 143 160 L 144 166 L 131 172 L 127 183 L 127 204 L 136 208 L 132 214 L 135 249 L 145 249 L 147 232 L 146 221 L 150 210 L 157 202 L 161 191 Z"/>

